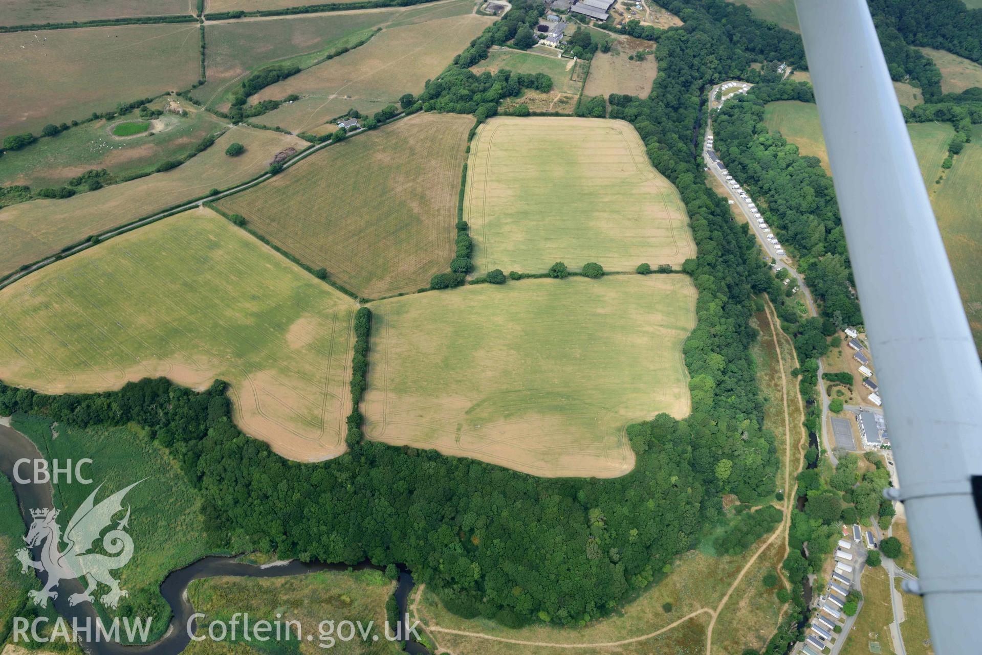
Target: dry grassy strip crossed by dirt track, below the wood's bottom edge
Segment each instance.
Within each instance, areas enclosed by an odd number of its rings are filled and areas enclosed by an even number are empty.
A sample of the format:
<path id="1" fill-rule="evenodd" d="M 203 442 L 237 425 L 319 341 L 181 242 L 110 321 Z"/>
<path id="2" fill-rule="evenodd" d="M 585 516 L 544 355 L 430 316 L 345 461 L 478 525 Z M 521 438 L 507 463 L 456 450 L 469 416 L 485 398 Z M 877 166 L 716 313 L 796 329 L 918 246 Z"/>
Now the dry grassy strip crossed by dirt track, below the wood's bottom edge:
<path id="1" fill-rule="evenodd" d="M 419 615 L 425 626 L 438 626 L 448 630 L 462 630 L 497 636 L 506 639 L 518 639 L 550 644 L 585 644 L 608 643 L 635 639 L 664 630 L 692 612 L 704 607 L 716 608 L 733 583 L 733 579 L 745 564 L 745 557 L 710 557 L 697 551 L 689 551 L 678 558 L 673 564 L 672 574 L 646 589 L 636 600 L 625 606 L 617 615 L 602 621 L 592 622 L 581 628 L 558 628 L 547 625 L 534 625 L 518 630 L 503 628 L 495 622 L 481 617 L 461 619 L 448 612 L 439 598 L 428 589 L 423 592 L 419 604 Z M 663 605 L 672 603 L 672 611 L 666 613 Z M 701 614 L 689 623 L 699 627 L 685 639 L 688 650 L 680 652 L 705 653 L 706 628 L 709 615 Z M 672 635 L 682 626 L 664 632 Z M 685 631 L 685 630 L 683 630 Z M 454 652 L 464 653 L 526 653 L 528 646 L 518 646 L 479 637 L 454 636 L 447 632 L 431 631 L 440 646 L 451 648 Z M 615 652 L 644 652 L 644 653 L 675 653 L 675 650 L 662 651 L 654 647 L 656 639 L 640 638 L 633 644 L 625 644 L 610 649 L 597 648 L 597 652 L 613 650 Z M 457 644 L 454 648 L 451 644 Z M 524 648 L 524 650 L 522 650 Z M 552 649 L 540 649 L 538 652 L 553 652 Z M 638 648 L 640 650 L 634 650 Z M 692 649 L 695 650 L 692 650 Z M 627 649 L 627 650 L 620 650 Z M 701 650 L 699 650 L 701 649 Z M 559 652 L 559 649 L 555 649 Z M 578 650 L 578 649 L 577 649 Z M 590 651 L 587 651 L 590 652 Z M 737 651 L 739 652 L 739 651 Z"/>

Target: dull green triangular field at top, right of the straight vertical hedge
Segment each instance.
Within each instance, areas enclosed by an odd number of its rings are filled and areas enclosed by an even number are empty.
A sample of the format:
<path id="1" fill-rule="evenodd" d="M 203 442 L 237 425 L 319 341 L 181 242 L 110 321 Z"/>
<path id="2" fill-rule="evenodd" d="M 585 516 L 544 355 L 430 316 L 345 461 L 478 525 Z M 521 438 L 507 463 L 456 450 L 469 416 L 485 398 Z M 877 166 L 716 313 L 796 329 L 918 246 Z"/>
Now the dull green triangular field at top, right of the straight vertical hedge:
<path id="1" fill-rule="evenodd" d="M 191 95 L 209 106 L 224 106 L 247 74 L 270 64 L 308 68 L 331 52 L 365 38 L 373 27 L 400 13 L 393 10 L 338 16 L 298 15 L 269 21 L 206 24 L 207 81 L 191 91 Z"/>

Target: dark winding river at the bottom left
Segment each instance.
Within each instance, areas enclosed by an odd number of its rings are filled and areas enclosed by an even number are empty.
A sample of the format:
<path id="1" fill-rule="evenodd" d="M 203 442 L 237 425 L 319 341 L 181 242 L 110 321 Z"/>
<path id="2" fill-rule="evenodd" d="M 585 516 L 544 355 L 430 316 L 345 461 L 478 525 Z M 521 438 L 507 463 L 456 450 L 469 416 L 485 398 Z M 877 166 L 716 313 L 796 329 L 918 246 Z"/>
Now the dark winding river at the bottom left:
<path id="1" fill-rule="evenodd" d="M 25 532 L 30 526 L 30 510 L 40 507 L 54 507 L 53 487 L 50 482 L 18 482 L 14 479 L 14 464 L 20 459 L 45 459 L 37 450 L 34 442 L 24 434 L 13 428 L 0 426 L 0 471 L 3 472 L 14 485 L 14 493 L 17 496 L 18 505 L 21 510 L 21 517 L 25 522 Z M 41 546 L 37 545 L 31 550 L 31 557 L 35 561 L 40 560 Z M 173 614 L 170 627 L 167 632 L 157 641 L 139 646 L 127 646 L 116 642 L 107 641 L 86 641 L 82 643 L 84 649 L 91 655 L 177 655 L 184 651 L 191 643 L 191 635 L 185 627 L 188 625 L 194 608 L 188 600 L 188 585 L 192 580 L 202 578 L 215 578 L 218 576 L 231 576 L 236 578 L 283 578 L 285 576 L 300 576 L 303 574 L 316 573 L 319 571 L 348 571 L 354 569 L 376 569 L 381 571 L 381 567 L 376 567 L 368 562 L 364 562 L 355 567 L 346 564 L 323 564 L 320 562 L 300 562 L 292 560 L 288 563 L 272 567 L 262 567 L 256 564 L 246 564 L 238 561 L 235 557 L 204 557 L 197 560 L 190 566 L 171 572 L 160 584 L 160 594 L 167 601 Z M 38 573 L 38 578 L 44 582 L 47 578 L 43 572 Z M 400 614 L 404 625 L 409 625 L 407 609 L 409 605 L 409 594 L 412 590 L 412 576 L 407 571 L 402 571 L 396 586 L 396 600 L 399 603 Z M 96 620 L 96 612 L 91 603 L 81 603 L 72 607 L 68 603 L 68 598 L 73 593 L 83 590 L 82 583 L 77 579 L 63 579 L 59 582 L 57 591 L 58 597 L 53 601 L 58 613 L 64 617 L 71 625 L 73 621 L 85 625 L 86 620 L 91 621 L 92 625 Z M 196 624 L 191 624 L 193 632 Z M 422 644 L 415 641 L 406 643 L 406 651 L 417 655 L 428 653 L 429 651 Z"/>

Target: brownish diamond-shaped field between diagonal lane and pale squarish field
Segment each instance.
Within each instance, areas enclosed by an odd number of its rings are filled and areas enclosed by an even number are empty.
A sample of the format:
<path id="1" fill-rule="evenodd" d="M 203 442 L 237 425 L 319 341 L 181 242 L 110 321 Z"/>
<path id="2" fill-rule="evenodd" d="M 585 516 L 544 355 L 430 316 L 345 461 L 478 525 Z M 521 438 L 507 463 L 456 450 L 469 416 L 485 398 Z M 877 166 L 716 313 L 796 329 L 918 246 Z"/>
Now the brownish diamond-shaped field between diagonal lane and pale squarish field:
<path id="1" fill-rule="evenodd" d="M 366 298 L 414 291 L 454 258 L 473 119 L 416 114 L 331 145 L 218 206 Z"/>

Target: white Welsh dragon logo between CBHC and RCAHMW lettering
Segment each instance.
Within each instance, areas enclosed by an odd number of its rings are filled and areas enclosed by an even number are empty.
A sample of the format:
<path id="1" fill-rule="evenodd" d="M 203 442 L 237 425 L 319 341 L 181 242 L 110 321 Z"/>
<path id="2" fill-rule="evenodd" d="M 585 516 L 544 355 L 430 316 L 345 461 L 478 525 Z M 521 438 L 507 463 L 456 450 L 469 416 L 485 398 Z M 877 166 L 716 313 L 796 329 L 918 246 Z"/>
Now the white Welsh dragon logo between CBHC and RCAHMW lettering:
<path id="1" fill-rule="evenodd" d="M 58 510 L 48 507 L 30 510 L 33 522 L 24 540 L 29 548 L 42 544 L 40 561 L 31 561 L 27 548 L 17 551 L 17 559 L 21 562 L 21 573 L 26 574 L 27 569 L 30 568 L 48 575 L 43 589 L 28 592 L 35 605 L 45 607 L 48 598 L 52 600 L 58 598 L 58 593 L 53 589 L 63 579 L 84 578 L 87 583 L 82 593 L 69 596 L 70 605 L 94 602 L 92 594 L 99 583 L 109 587 L 109 592 L 99 598 L 106 607 L 115 609 L 121 598 L 130 595 L 120 588 L 119 580 L 110 574 L 110 571 L 125 567 L 133 557 L 133 538 L 125 531 L 130 524 L 129 505 L 126 508 L 126 516 L 116 529 L 111 529 L 102 537 L 102 548 L 109 555 L 90 551 L 102 530 L 113 523 L 113 516 L 123 511 L 123 498 L 136 484 L 139 482 L 114 493 L 96 505 L 95 494 L 102 488 L 99 484 L 72 517 L 65 529 L 64 537 L 56 521 Z M 61 550 L 60 544 L 63 539 L 67 547 Z"/>

